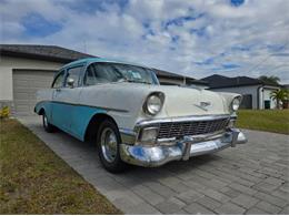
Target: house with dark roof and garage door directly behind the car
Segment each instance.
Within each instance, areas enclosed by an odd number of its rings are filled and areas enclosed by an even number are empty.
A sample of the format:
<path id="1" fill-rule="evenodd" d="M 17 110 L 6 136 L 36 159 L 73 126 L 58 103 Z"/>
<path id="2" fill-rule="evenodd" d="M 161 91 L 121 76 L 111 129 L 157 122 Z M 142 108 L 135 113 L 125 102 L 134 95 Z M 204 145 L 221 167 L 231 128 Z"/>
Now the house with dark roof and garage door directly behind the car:
<path id="1" fill-rule="evenodd" d="M 14 114 L 33 114 L 37 90 L 49 88 L 63 64 L 89 56 L 56 45 L 0 44 L 0 109 L 8 105 Z M 157 69 L 156 73 L 161 84 L 203 83 Z"/>

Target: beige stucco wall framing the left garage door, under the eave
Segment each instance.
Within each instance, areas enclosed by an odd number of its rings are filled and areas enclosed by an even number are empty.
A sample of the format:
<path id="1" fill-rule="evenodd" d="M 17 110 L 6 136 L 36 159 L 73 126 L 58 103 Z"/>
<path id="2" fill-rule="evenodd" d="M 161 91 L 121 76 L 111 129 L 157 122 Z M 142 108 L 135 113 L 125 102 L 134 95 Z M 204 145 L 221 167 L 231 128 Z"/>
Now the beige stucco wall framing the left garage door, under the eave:
<path id="1" fill-rule="evenodd" d="M 0 56 L 0 101 L 13 100 L 13 69 L 58 70 L 63 64 L 41 60 Z"/>

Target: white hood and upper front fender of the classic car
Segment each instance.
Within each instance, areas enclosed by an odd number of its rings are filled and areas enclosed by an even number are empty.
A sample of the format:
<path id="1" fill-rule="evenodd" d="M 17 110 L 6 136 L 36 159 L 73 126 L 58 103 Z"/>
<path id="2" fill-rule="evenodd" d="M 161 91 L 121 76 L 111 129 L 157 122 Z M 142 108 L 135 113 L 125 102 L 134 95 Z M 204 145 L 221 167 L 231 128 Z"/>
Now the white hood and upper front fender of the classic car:
<path id="1" fill-rule="evenodd" d="M 86 91 L 86 95 L 83 95 L 84 99 L 89 99 L 87 104 L 101 102 L 104 107 L 138 112 L 138 115 L 143 117 L 148 116 L 142 112 L 142 104 L 152 92 L 165 94 L 162 112 L 155 117 L 229 114 L 228 101 L 232 97 L 231 95 L 236 95 L 229 94 L 228 100 L 220 93 L 201 89 L 126 82 L 101 84 L 88 89 L 90 91 Z M 88 96 L 89 94 L 93 94 L 93 96 Z"/>

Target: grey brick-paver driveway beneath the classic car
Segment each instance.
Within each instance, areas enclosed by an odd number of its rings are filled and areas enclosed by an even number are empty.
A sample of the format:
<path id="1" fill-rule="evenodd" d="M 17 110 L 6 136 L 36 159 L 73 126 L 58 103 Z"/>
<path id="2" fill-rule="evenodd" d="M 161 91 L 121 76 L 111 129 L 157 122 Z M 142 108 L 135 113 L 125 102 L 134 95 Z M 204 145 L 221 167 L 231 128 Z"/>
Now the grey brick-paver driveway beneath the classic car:
<path id="1" fill-rule="evenodd" d="M 20 121 L 126 214 L 289 214 L 287 135 L 245 131 L 246 145 L 113 175 L 93 145 L 46 133 L 39 116 Z"/>

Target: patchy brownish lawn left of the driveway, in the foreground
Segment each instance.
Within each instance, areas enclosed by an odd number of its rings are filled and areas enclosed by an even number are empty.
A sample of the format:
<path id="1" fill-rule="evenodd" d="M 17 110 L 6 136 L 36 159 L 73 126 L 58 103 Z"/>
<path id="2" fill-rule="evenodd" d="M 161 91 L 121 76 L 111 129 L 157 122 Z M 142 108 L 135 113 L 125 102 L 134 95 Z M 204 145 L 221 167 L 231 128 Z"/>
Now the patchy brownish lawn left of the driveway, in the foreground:
<path id="1" fill-rule="evenodd" d="M 0 121 L 0 214 L 121 214 L 28 128 Z"/>

